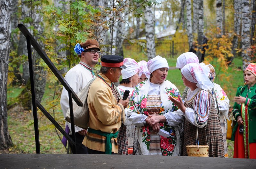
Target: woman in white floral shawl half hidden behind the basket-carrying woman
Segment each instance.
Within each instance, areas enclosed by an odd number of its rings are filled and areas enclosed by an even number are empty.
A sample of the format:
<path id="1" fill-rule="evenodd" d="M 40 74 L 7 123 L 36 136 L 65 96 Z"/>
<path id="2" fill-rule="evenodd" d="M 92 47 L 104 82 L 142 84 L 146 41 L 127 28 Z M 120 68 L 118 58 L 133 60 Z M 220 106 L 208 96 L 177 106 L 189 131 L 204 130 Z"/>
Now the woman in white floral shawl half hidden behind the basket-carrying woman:
<path id="1" fill-rule="evenodd" d="M 212 65 L 206 65 L 206 66 L 209 67 L 210 73 L 212 75 L 212 81 L 214 81 L 216 76 L 214 67 Z M 228 119 L 229 99 L 219 84 L 213 82 L 213 85 L 214 85 L 214 92 L 216 95 L 217 103 L 220 110 L 220 125 L 222 129 L 222 134 L 223 134 L 224 153 L 225 153 L 225 157 L 228 158 L 228 146 L 227 146 L 227 136 L 226 136 L 227 120 L 226 119 Z"/>

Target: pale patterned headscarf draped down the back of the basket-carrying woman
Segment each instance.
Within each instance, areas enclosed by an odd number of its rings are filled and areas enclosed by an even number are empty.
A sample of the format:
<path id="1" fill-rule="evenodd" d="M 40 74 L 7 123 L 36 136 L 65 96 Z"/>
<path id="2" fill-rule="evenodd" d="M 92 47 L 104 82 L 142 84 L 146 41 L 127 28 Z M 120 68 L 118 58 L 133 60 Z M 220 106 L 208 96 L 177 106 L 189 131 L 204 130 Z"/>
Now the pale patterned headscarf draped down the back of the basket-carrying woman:
<path id="1" fill-rule="evenodd" d="M 204 69 L 198 63 L 189 63 L 181 69 L 183 76 L 196 86 L 204 90 L 212 90 L 213 84 L 204 73 Z"/>

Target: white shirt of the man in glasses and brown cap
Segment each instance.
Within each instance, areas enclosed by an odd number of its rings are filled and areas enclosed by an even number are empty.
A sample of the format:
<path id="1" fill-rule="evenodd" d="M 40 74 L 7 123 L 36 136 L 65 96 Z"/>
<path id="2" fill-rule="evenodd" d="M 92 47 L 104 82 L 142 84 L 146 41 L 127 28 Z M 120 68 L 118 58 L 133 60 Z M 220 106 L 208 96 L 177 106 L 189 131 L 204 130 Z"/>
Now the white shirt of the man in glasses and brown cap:
<path id="1" fill-rule="evenodd" d="M 89 67 L 93 70 L 92 67 L 88 66 L 84 62 L 80 62 L 86 67 Z M 84 67 L 81 64 L 77 64 L 76 66 L 72 67 L 67 74 L 65 75 L 65 80 L 68 82 L 69 86 L 74 90 L 76 95 L 87 85 L 87 83 L 93 79 L 94 75 L 92 72 Z M 60 97 L 60 106 L 63 112 L 64 117 L 66 117 L 66 113 L 69 108 L 69 101 L 68 101 L 68 91 L 66 88 L 63 87 L 61 97 Z M 66 122 L 70 131 L 71 131 L 71 124 Z M 80 127 L 75 125 L 75 132 L 83 130 Z"/>

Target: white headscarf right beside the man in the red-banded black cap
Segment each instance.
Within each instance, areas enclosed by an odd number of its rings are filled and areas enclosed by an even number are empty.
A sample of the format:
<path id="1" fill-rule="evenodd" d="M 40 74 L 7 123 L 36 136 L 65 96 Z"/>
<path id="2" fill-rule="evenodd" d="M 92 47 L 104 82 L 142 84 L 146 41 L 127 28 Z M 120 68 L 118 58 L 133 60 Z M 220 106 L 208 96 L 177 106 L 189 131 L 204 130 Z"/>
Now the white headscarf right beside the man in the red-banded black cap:
<path id="1" fill-rule="evenodd" d="M 124 58 L 124 66 L 126 66 L 126 69 L 122 69 L 123 79 L 128 79 L 140 71 L 138 63 L 131 58 Z"/>

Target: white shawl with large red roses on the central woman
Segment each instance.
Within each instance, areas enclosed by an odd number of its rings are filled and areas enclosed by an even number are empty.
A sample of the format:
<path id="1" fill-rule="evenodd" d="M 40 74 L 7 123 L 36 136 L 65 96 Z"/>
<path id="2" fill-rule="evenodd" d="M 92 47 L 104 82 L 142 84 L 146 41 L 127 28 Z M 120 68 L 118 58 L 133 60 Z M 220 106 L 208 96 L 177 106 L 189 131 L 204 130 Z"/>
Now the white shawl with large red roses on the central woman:
<path id="1" fill-rule="evenodd" d="M 128 106 L 127 116 L 129 121 L 137 120 L 140 123 L 147 118 L 148 111 L 146 109 L 146 103 L 148 98 L 148 91 L 150 88 L 150 81 L 140 82 L 133 90 L 132 97 L 130 99 L 130 104 Z M 160 115 L 164 115 L 167 112 L 175 111 L 178 108 L 170 101 L 168 96 L 175 97 L 178 99 L 180 96 L 179 90 L 170 82 L 164 81 L 160 85 L 160 97 L 161 97 L 161 107 Z M 144 115 L 144 119 L 143 118 Z M 142 116 L 142 118 L 140 117 Z M 141 120 L 142 119 L 142 120 Z M 143 126 L 143 124 L 133 123 L 136 126 L 135 137 L 140 144 L 140 150 L 138 147 L 134 146 L 134 149 L 141 151 L 143 155 L 148 155 L 149 145 L 150 145 L 150 131 L 149 126 Z M 179 155 L 180 153 L 180 135 L 177 126 L 169 126 L 166 123 L 160 123 L 160 129 L 169 132 L 169 136 L 164 138 L 160 136 L 160 147 L 163 155 Z M 177 147 L 177 148 L 175 148 Z"/>

